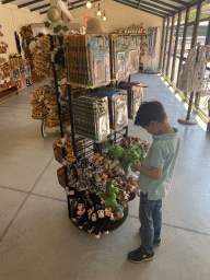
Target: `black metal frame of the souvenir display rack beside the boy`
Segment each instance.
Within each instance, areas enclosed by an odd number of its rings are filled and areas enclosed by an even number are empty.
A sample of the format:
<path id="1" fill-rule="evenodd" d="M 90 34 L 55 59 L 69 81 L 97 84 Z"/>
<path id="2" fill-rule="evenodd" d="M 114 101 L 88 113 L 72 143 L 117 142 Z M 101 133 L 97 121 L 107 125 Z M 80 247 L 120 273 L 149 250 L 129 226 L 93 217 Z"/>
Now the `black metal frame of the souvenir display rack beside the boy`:
<path id="1" fill-rule="evenodd" d="M 51 43 L 51 49 L 54 49 L 54 37 L 50 37 L 50 43 Z M 68 47 L 66 48 L 66 59 L 67 59 L 67 66 L 68 66 Z M 55 84 L 56 84 L 56 94 L 57 94 L 57 101 L 58 101 L 58 107 L 59 112 L 61 110 L 61 106 L 59 104 L 59 86 L 57 83 L 57 75 L 56 75 L 56 63 L 55 61 L 52 62 L 52 68 L 54 68 L 54 77 L 55 77 Z M 68 72 L 68 78 L 69 78 L 69 68 L 67 67 L 67 72 Z M 69 79 L 68 79 L 69 80 Z M 107 149 L 110 144 L 119 142 L 124 137 L 127 137 L 128 133 L 128 126 L 117 130 L 117 131 L 112 131 L 107 137 L 106 140 L 103 142 L 100 141 L 94 141 L 92 139 L 89 139 L 86 137 L 81 137 L 75 133 L 75 127 L 74 127 L 74 114 L 73 114 L 73 101 L 72 101 L 72 91 L 73 90 L 81 90 L 80 86 L 78 88 L 72 88 L 70 83 L 67 84 L 67 90 L 68 90 L 68 102 L 69 102 L 69 115 L 71 119 L 71 132 L 68 132 L 66 135 L 67 139 L 72 139 L 72 151 L 73 151 L 73 156 L 77 159 L 77 162 L 79 162 L 81 159 L 92 159 L 93 155 L 96 152 L 107 152 Z M 95 90 L 92 89 L 91 92 L 93 93 Z M 85 96 L 85 95 L 84 95 Z M 61 138 L 65 137 L 63 132 L 63 126 L 62 126 L 62 119 L 61 119 L 61 114 L 59 114 L 60 117 L 60 131 L 61 131 Z M 77 142 L 81 143 L 81 149 L 77 149 Z M 55 148 L 55 145 L 54 145 Z M 55 149 L 56 150 L 56 149 Z M 67 155 L 67 152 L 65 149 L 61 149 L 62 156 L 59 159 L 59 156 L 55 156 L 57 161 L 63 164 L 62 159 Z M 72 167 L 72 166 L 71 166 Z M 63 175 L 65 175 L 65 184 L 62 187 L 68 187 L 68 164 L 61 167 Z M 60 182 L 59 182 L 60 183 Z M 69 211 L 69 218 L 71 219 L 72 217 L 72 211 L 73 211 L 73 206 L 74 206 L 74 200 L 71 199 L 70 196 L 67 195 L 67 201 L 68 201 L 68 211 Z M 118 228 L 127 218 L 128 214 L 128 207 L 125 208 L 124 210 L 124 215 L 121 219 L 117 219 L 116 221 L 112 221 L 109 224 L 109 231 Z M 75 225 L 77 222 L 73 222 Z M 85 230 L 85 228 L 83 229 Z"/>

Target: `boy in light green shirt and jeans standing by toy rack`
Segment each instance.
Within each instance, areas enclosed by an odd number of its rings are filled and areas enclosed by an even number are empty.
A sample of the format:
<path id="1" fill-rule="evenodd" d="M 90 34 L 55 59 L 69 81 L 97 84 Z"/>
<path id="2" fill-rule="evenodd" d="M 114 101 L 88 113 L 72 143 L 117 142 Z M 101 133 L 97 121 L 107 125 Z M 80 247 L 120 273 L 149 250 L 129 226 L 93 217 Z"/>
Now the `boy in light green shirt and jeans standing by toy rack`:
<path id="1" fill-rule="evenodd" d="M 170 190 L 172 175 L 179 150 L 178 130 L 171 127 L 163 105 L 158 101 L 143 102 L 137 113 L 136 126 L 141 126 L 153 135 L 153 142 L 143 161 L 135 161 L 133 167 L 140 172 L 139 220 L 141 223 L 141 246 L 128 254 L 133 262 L 154 257 L 154 245 L 161 244 L 162 198 Z"/>

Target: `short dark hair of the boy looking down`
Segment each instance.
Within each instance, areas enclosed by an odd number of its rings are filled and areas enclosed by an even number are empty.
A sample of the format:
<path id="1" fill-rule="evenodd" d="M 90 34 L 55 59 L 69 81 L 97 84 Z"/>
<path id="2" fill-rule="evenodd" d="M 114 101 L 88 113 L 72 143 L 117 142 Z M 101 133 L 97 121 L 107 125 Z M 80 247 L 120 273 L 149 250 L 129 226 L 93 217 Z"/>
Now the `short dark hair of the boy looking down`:
<path id="1" fill-rule="evenodd" d="M 150 101 L 142 102 L 135 119 L 135 126 L 147 127 L 151 120 L 163 121 L 167 119 L 167 114 L 161 102 Z"/>

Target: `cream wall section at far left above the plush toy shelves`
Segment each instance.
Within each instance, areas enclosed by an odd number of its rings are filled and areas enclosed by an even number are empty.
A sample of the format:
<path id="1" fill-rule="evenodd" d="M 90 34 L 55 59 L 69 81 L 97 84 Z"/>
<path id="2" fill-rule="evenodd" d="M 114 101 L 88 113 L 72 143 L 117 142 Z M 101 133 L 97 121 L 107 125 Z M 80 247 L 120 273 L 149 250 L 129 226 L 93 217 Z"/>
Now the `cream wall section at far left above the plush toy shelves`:
<path id="1" fill-rule="evenodd" d="M 2 4 L 0 2 L 0 25 L 3 37 L 0 40 L 9 45 L 7 54 L 0 54 L 0 57 L 9 59 L 9 55 L 16 52 L 16 43 L 14 32 L 20 35 L 21 27 L 31 23 L 42 22 L 46 15 L 40 15 L 38 12 L 31 12 L 28 9 L 18 9 L 15 4 Z M 20 36 L 20 43 L 22 38 Z M 24 51 L 22 51 L 24 56 Z"/>

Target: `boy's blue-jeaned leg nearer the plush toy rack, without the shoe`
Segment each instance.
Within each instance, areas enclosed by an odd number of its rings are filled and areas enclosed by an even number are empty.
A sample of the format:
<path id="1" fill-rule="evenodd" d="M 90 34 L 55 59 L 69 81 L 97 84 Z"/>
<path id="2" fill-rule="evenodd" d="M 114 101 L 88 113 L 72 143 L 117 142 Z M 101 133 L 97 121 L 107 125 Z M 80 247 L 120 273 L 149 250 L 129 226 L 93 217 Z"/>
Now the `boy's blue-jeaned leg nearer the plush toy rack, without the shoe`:
<path id="1" fill-rule="evenodd" d="M 141 223 L 141 244 L 147 252 L 154 250 L 154 225 L 153 225 L 153 209 L 155 200 L 149 200 L 148 195 L 141 192 L 139 220 Z"/>

